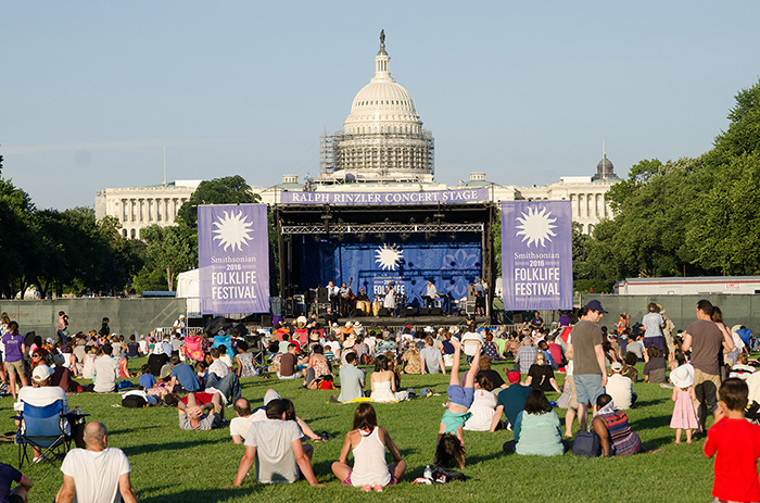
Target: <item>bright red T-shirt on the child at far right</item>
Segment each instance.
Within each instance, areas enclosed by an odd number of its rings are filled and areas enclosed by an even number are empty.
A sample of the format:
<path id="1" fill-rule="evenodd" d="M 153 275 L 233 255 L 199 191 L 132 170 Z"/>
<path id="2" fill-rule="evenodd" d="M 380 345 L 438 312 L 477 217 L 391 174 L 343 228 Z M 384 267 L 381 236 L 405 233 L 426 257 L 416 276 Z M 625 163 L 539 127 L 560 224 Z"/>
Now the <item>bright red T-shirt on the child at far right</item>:
<path id="1" fill-rule="evenodd" d="M 730 501 L 760 501 L 760 426 L 724 417 L 707 432 L 705 455 L 715 454 L 712 495 Z"/>

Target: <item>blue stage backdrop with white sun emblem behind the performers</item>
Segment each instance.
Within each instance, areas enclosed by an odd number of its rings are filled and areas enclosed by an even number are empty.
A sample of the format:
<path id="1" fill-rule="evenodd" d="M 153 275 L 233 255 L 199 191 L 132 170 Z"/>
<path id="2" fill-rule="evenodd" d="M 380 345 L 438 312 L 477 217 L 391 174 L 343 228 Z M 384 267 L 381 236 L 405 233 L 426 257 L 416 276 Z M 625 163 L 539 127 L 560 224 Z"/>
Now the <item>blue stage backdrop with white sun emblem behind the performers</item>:
<path id="1" fill-rule="evenodd" d="M 301 239 L 301 287 L 325 286 L 328 281 L 349 284 L 354 293 L 364 288 L 371 300 L 384 294 L 385 285 L 394 281 L 396 291 L 406 294 L 407 304 L 421 305 L 428 280 L 440 295 L 467 297 L 467 286 L 481 274 L 481 243 L 472 241 L 403 242 L 389 239 L 383 243 L 339 242 L 312 236 Z"/>

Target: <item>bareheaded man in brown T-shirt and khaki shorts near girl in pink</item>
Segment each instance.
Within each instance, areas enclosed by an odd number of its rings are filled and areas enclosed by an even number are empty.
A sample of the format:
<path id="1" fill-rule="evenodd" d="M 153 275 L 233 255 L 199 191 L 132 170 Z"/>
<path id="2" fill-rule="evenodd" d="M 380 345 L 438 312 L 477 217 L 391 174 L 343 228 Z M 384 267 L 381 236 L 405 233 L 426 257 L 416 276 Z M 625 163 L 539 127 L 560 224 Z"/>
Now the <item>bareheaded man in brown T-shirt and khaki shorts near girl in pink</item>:
<path id="1" fill-rule="evenodd" d="M 732 351 L 734 341 L 718 328 L 712 320 L 712 303 L 702 299 L 697 302 L 697 320 L 686 327 L 681 344 L 684 352 L 692 351 L 689 363 L 694 367 L 694 392 L 699 404 L 697 416 L 702 433 L 707 431 L 708 407 L 718 420 L 718 388 L 721 385 L 719 359 L 724 348 Z"/>

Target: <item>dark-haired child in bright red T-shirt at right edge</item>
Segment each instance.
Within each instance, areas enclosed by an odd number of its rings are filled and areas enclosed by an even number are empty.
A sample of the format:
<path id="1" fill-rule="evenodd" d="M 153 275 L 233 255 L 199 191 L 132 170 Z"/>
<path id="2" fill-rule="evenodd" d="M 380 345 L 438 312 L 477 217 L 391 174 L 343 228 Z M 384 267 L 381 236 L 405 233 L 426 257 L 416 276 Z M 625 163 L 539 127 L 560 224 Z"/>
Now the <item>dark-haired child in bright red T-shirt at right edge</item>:
<path id="1" fill-rule="evenodd" d="M 717 422 L 705 442 L 705 456 L 715 456 L 714 501 L 760 501 L 760 426 L 745 419 L 748 394 L 747 383 L 735 377 L 718 391 Z"/>

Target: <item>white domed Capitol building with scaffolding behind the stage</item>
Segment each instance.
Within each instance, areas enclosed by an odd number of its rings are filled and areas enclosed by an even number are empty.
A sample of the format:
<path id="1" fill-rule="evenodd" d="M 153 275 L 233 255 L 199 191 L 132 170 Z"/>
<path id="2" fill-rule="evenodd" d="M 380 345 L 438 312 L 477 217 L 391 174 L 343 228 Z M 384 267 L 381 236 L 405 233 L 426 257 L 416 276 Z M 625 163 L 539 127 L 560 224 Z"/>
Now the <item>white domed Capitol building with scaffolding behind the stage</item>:
<path id="1" fill-rule="evenodd" d="M 590 234 L 601 218 L 611 216 L 605 193 L 620 181 L 606 153 L 593 175 L 563 176 L 548 186 L 499 185 L 489 181 L 482 172 L 470 173 L 467 181 L 448 186 L 434 181 L 434 174 L 433 135 L 422 127 L 411 95 L 391 77 L 391 58 L 381 33 L 375 76 L 354 97 L 343 130 L 321 134 L 319 175 L 300 183 L 297 175 L 284 174 L 281 184 L 254 187 L 252 191 L 271 205 L 280 202 L 284 191 L 400 192 L 487 187 L 490 199 L 496 203 L 570 201 L 573 222 Z M 102 189 L 96 196 L 96 216 L 113 216 L 122 224 L 124 237 L 140 238 L 143 227 L 173 225 L 179 206 L 199 184 L 177 180 L 154 187 Z"/>

